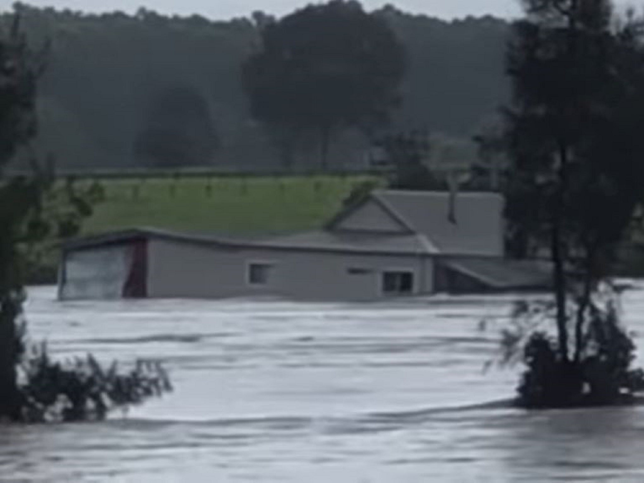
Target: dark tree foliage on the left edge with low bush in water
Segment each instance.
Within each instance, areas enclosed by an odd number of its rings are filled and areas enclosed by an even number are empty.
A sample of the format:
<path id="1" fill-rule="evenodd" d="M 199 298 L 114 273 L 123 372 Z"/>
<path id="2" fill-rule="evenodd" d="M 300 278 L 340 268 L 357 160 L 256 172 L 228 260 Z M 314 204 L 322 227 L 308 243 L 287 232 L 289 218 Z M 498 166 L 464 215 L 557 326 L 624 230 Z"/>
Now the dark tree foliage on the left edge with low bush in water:
<path id="1" fill-rule="evenodd" d="M 0 135 L 0 168 L 22 149 L 32 174 L 0 178 L 0 419 L 100 419 L 110 408 L 138 403 L 169 385 L 160 366 L 139 365 L 119 375 L 115 366 L 104 372 L 91 356 L 61 365 L 50 361 L 44 346 L 36 352 L 26 348 L 23 281 L 28 254 L 45 240 L 75 234 L 100 196 L 95 186 L 78 191 L 73 180 L 56 189 L 52 163 L 42 166 L 29 149 L 41 68 L 16 15 L 10 33 L 0 35 L 0 127 L 5 129 Z M 21 384 L 17 366 L 24 373 Z"/>

